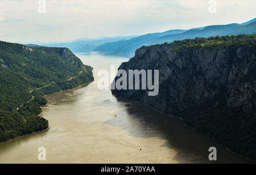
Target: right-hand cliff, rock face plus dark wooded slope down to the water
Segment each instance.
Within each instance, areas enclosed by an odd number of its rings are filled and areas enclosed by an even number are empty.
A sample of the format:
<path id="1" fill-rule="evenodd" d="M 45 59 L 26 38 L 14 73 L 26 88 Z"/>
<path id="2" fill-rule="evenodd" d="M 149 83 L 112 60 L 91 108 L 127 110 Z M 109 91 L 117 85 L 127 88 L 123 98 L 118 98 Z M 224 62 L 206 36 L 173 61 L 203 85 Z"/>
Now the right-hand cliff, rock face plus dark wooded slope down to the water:
<path id="1" fill-rule="evenodd" d="M 221 135 L 216 128 L 225 126 L 223 128 L 225 134 L 217 140 L 228 146 L 230 150 L 256 159 L 255 153 L 251 155 L 251 152 L 256 150 L 255 37 L 250 46 L 242 42 L 228 46 L 225 42 L 228 43 L 223 41 L 222 46 L 218 44 L 183 47 L 175 44 L 143 46 L 135 52 L 135 57 L 122 63 L 119 69 L 159 70 L 159 94 L 147 96 L 147 90 L 117 89 L 112 90 L 112 93 L 150 105 L 164 113 L 183 117 L 185 123 L 214 138 Z M 222 108 L 225 108 L 226 114 L 219 112 Z M 208 114 L 201 114 L 200 109 L 208 111 Z M 233 109 L 236 109 L 239 115 L 230 114 L 230 118 L 227 118 L 228 111 Z M 193 113 L 196 110 L 197 113 Z M 183 112 L 186 112 L 185 116 L 181 115 Z M 192 117 L 187 117 L 188 114 Z M 241 121 L 238 116 L 245 116 L 243 118 L 245 121 Z M 218 119 L 220 121 L 217 121 Z M 242 126 L 241 122 L 249 124 Z M 245 127 L 249 125 L 250 130 L 245 131 Z M 246 137 L 249 135 L 253 137 L 248 142 L 250 146 L 246 147 L 250 149 L 250 153 L 241 151 L 245 149 L 242 145 L 245 143 L 241 141 L 242 138 L 245 140 L 245 135 L 237 136 L 236 126 L 237 131 L 247 132 Z M 232 138 L 236 141 L 236 147 L 232 147 L 231 142 L 225 140 Z"/>

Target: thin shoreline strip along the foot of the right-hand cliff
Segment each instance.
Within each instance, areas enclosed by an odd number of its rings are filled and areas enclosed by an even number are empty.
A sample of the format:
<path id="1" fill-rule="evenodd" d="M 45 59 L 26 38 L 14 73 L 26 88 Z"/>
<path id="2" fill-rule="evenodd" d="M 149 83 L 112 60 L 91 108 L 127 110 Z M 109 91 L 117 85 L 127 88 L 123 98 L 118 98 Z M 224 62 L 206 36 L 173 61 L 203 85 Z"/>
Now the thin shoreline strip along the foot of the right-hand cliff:
<path id="1" fill-rule="evenodd" d="M 115 96 L 115 95 L 114 95 L 114 96 Z M 115 96 L 115 97 L 118 98 L 118 96 Z M 119 98 L 120 98 L 120 97 L 119 97 Z M 142 103 L 139 103 L 138 101 L 134 101 L 134 100 L 128 100 L 128 99 L 126 99 L 125 97 L 122 97 L 122 96 L 121 96 L 121 99 L 123 99 L 123 101 L 128 101 L 128 102 L 130 101 L 130 102 L 133 102 L 133 103 L 137 103 L 137 104 L 139 104 L 139 105 L 147 106 L 148 108 L 150 108 L 150 109 L 152 109 L 152 110 L 155 110 L 155 111 L 157 111 L 157 112 L 159 112 L 159 113 L 161 113 L 161 114 L 166 114 L 166 115 L 168 115 L 168 116 L 170 116 L 170 117 L 178 118 L 178 119 L 182 122 L 182 124 L 183 124 L 185 127 L 188 127 L 189 129 L 195 130 L 197 133 L 202 134 L 202 135 L 204 135 L 204 136 L 207 136 L 209 139 L 214 140 L 214 142 L 217 142 L 217 140 L 215 140 L 214 138 L 210 138 L 208 135 L 205 135 L 205 134 L 203 134 L 203 133 L 197 131 L 195 127 L 191 127 L 191 126 L 186 125 L 186 124 L 184 123 L 184 119 L 181 118 L 181 117 L 172 116 L 171 114 L 164 113 L 164 112 L 162 112 L 162 111 L 160 111 L 160 110 L 158 110 L 158 109 L 153 108 L 153 107 L 150 106 L 150 105 L 142 104 Z M 227 150 L 228 152 L 233 153 L 234 155 L 237 155 L 237 156 L 239 156 L 239 157 L 242 157 L 243 159 L 249 160 L 249 161 L 251 161 L 251 163 L 256 163 L 256 160 L 249 159 L 249 158 L 247 158 L 247 157 L 245 157 L 245 156 L 243 156 L 243 155 L 240 155 L 240 154 L 238 154 L 238 153 L 236 153 L 236 152 L 233 152 L 233 151 L 229 150 L 229 148 L 227 148 L 226 146 L 224 146 L 224 145 L 223 145 L 222 143 L 220 143 L 220 142 L 217 142 L 217 143 L 220 144 L 222 147 L 224 147 L 225 150 Z"/>

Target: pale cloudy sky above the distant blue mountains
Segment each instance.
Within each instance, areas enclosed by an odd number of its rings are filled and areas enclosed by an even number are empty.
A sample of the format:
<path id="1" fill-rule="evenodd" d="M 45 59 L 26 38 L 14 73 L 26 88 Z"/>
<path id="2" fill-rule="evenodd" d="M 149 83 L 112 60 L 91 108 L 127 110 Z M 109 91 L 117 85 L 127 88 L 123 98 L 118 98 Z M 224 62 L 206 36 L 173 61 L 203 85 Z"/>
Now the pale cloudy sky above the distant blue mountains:
<path id="1" fill-rule="evenodd" d="M 255 0 L 0 0 L 0 40 L 71 41 L 243 23 L 256 18 L 255 7 Z"/>

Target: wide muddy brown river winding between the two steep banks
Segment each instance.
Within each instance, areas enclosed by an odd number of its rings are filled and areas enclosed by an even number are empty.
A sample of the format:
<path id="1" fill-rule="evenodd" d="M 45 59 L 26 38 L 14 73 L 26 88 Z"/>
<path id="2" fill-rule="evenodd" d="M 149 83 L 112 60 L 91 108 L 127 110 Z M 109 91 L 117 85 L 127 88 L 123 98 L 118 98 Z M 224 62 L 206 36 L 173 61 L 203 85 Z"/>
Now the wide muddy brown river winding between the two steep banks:
<path id="1" fill-rule="evenodd" d="M 47 95 L 50 129 L 0 143 L 0 163 L 250 163 L 179 118 L 98 89 L 98 70 L 117 69 L 127 58 L 76 55 L 94 68 L 94 82 Z M 46 161 L 38 160 L 39 147 Z M 217 148 L 217 161 L 209 161 L 209 147 Z"/>

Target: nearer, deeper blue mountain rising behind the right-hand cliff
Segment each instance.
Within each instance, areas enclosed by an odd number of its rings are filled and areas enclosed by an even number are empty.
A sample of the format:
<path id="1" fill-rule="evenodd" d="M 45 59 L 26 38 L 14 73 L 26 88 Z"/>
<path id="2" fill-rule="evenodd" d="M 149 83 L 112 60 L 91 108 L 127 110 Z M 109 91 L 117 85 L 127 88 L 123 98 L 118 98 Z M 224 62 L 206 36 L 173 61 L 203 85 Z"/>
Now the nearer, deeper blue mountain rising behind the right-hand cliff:
<path id="1" fill-rule="evenodd" d="M 256 22 L 255 19 L 253 19 L 242 24 L 209 25 L 207 27 L 192 28 L 189 30 L 171 30 L 162 33 L 151 33 L 130 40 L 105 43 L 97 46 L 94 51 L 109 54 L 123 54 L 124 56 L 132 57 L 134 56 L 135 50 L 143 45 L 163 44 L 164 42 L 195 39 L 196 37 L 252 34 L 255 32 Z"/>

